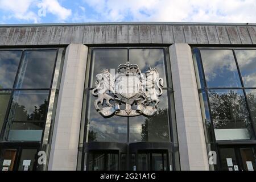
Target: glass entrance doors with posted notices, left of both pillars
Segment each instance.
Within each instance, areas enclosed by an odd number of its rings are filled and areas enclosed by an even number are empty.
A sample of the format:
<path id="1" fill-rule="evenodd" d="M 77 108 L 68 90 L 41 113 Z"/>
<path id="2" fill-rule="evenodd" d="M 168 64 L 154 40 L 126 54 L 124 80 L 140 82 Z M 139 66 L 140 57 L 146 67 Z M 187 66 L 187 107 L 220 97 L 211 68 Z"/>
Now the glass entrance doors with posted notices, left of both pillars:
<path id="1" fill-rule="evenodd" d="M 0 147 L 1 171 L 33 171 L 38 148 Z"/>

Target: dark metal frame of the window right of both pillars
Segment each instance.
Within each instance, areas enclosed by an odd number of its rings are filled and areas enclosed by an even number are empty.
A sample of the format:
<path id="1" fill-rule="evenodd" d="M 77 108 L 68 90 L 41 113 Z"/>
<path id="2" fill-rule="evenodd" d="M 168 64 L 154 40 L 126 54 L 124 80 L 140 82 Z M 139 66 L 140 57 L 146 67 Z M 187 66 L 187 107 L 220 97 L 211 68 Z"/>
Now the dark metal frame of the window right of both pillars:
<path id="1" fill-rule="evenodd" d="M 246 96 L 246 92 L 245 90 L 246 89 L 256 89 L 256 87 L 249 87 L 249 88 L 245 88 L 245 86 L 243 85 L 243 80 L 242 80 L 242 75 L 241 75 L 241 71 L 240 71 L 240 67 L 238 65 L 238 62 L 237 62 L 237 57 L 236 57 L 236 53 L 235 53 L 235 50 L 236 49 L 241 49 L 241 50 L 255 50 L 256 51 L 256 48 L 249 48 L 249 47 L 193 47 L 192 48 L 192 53 L 193 53 L 193 49 L 199 49 L 199 57 L 200 57 L 200 64 L 201 64 L 201 69 L 202 70 L 199 70 L 203 72 L 203 80 L 200 80 L 200 81 L 203 81 L 203 84 L 204 84 L 204 87 L 203 88 L 199 88 L 198 91 L 199 93 L 202 92 L 204 90 L 206 96 L 207 96 L 207 102 L 208 102 L 208 109 L 209 109 L 209 117 L 210 117 L 210 122 L 211 122 L 211 130 L 212 130 L 212 138 L 213 138 L 213 143 L 209 143 L 209 144 L 213 144 L 214 145 L 214 148 L 216 148 L 216 153 L 217 153 L 217 156 L 220 156 L 219 155 L 219 147 L 222 146 L 222 144 L 234 144 L 235 146 L 237 145 L 242 145 L 242 144 L 256 144 L 256 140 L 255 140 L 255 128 L 253 126 L 253 118 L 251 117 L 251 111 L 250 111 L 250 107 L 248 105 L 248 102 L 247 102 L 247 96 Z M 204 72 L 204 66 L 203 66 L 203 61 L 202 61 L 202 57 L 201 57 L 201 50 L 202 49 L 229 49 L 229 50 L 232 50 L 232 53 L 233 53 L 233 56 L 234 56 L 234 60 L 235 60 L 235 63 L 236 63 L 236 67 L 237 67 L 237 71 L 238 71 L 238 75 L 240 77 L 240 81 L 241 81 L 241 87 L 221 87 L 221 88 L 212 88 L 212 87 L 208 87 L 207 86 L 207 81 L 205 79 L 205 72 Z M 197 64 L 197 63 L 196 63 Z M 243 94 L 244 94 L 244 97 L 245 97 L 245 102 L 246 102 L 246 109 L 248 110 L 249 112 L 249 118 L 250 118 L 250 125 L 251 125 L 251 128 L 253 129 L 253 132 L 251 134 L 253 134 L 253 138 L 254 140 L 216 140 L 216 137 L 215 137 L 215 133 L 214 133 L 214 127 L 213 127 L 213 119 L 212 119 L 212 112 L 211 112 L 211 109 L 210 109 L 210 102 L 209 102 L 209 94 L 208 94 L 208 90 L 213 90 L 213 89 L 223 89 L 223 90 L 232 90 L 232 89 L 240 89 L 240 90 L 243 90 Z M 217 169 L 221 169 L 221 160 L 220 158 L 218 157 L 218 161 L 217 161 Z"/>

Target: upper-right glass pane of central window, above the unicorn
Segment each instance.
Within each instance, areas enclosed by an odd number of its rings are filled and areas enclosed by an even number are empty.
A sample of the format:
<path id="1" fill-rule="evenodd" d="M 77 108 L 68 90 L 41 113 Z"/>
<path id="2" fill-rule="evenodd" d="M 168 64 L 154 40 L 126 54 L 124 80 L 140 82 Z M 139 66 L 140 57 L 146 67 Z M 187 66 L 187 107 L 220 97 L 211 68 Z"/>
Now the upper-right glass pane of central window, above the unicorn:
<path id="1" fill-rule="evenodd" d="M 159 77 L 164 79 L 164 87 L 167 85 L 166 71 L 164 67 L 164 50 L 163 49 L 130 49 L 129 61 L 139 65 L 142 73 L 148 71 L 148 68 L 156 68 Z"/>

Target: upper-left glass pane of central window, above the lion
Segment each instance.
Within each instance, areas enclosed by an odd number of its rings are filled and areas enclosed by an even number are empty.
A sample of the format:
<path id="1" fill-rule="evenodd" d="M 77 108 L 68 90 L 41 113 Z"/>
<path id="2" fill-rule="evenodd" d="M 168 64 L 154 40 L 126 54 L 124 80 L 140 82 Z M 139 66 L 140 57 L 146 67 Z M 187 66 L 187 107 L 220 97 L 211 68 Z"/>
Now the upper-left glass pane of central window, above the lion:
<path id="1" fill-rule="evenodd" d="M 116 69 L 119 64 L 126 63 L 128 60 L 127 49 L 94 49 L 92 53 L 92 81 L 90 87 L 94 87 L 97 81 L 96 75 L 101 73 L 102 69 Z M 112 72 L 110 72 L 112 73 Z M 115 73 L 113 73 L 114 76 Z"/>

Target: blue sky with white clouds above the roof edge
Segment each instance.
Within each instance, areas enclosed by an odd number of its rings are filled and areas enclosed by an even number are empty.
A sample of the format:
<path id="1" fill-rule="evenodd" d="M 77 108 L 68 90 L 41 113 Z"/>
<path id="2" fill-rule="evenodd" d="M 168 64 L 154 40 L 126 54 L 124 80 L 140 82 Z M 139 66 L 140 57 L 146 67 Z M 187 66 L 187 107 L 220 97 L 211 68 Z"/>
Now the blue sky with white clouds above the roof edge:
<path id="1" fill-rule="evenodd" d="M 0 0 L 0 23 L 256 22 L 256 0 Z"/>

